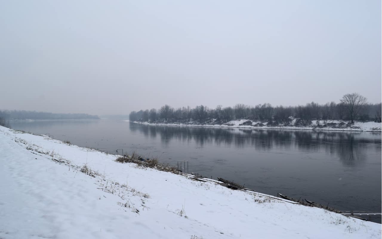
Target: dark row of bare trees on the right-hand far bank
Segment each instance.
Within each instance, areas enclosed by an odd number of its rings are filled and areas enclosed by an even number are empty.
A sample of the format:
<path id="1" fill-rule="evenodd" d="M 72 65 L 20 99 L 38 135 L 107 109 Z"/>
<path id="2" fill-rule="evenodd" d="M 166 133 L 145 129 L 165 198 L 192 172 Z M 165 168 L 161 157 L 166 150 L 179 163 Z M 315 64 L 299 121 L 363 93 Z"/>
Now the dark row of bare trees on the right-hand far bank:
<path id="1" fill-rule="evenodd" d="M 340 103 L 308 103 L 304 106 L 272 106 L 269 103 L 257 106 L 236 104 L 234 107 L 217 106 L 215 109 L 200 105 L 195 108 L 174 109 L 168 105 L 160 109 L 132 111 L 130 121 L 142 122 L 189 122 L 201 124 L 224 124 L 234 119 L 267 121 L 268 125 L 289 125 L 291 117 L 298 118 L 298 124 L 309 125 L 311 120 L 362 120 L 381 122 L 381 103 L 367 103 L 366 98 L 357 93 L 346 94 Z"/>

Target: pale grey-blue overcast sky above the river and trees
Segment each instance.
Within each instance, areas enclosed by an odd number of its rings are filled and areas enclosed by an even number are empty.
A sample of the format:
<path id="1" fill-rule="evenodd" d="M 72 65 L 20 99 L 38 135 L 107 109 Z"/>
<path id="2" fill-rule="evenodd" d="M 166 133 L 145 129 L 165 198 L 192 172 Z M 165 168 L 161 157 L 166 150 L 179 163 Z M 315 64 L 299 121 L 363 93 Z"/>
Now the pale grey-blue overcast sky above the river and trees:
<path id="1" fill-rule="evenodd" d="M 381 101 L 381 1 L 1 1 L 0 109 Z"/>

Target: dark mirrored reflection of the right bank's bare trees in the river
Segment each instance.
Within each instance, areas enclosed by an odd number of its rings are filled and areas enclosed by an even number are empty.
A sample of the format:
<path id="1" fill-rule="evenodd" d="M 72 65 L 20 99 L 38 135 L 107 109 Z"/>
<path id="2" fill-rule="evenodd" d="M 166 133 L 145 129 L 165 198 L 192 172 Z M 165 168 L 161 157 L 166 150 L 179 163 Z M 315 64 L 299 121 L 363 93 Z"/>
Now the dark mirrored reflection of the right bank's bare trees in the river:
<path id="1" fill-rule="evenodd" d="M 139 130 L 146 137 L 156 138 L 164 144 L 171 140 L 195 141 L 204 146 L 234 145 L 237 148 L 251 146 L 255 150 L 269 151 L 276 148 L 318 152 L 324 150 L 328 154 L 336 154 L 346 164 L 366 159 L 367 145 L 376 150 L 381 148 L 379 134 L 361 132 L 310 131 L 310 130 L 272 130 L 272 129 L 240 129 L 212 127 L 175 127 L 161 125 L 130 124 L 130 129 Z"/>

